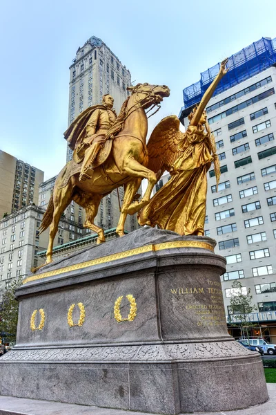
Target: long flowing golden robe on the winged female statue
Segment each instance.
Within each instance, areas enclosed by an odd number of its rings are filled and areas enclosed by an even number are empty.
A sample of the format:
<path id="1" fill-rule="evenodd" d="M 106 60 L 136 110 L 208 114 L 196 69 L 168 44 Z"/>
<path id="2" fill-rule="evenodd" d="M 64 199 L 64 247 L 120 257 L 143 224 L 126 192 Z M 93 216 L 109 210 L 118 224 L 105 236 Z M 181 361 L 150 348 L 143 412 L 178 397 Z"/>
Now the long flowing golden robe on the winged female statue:
<path id="1" fill-rule="evenodd" d="M 204 127 L 189 126 L 181 147 L 183 154 L 172 165 L 175 174 L 150 199 L 144 214 L 152 226 L 181 235 L 204 235 L 206 173 L 213 161 Z"/>

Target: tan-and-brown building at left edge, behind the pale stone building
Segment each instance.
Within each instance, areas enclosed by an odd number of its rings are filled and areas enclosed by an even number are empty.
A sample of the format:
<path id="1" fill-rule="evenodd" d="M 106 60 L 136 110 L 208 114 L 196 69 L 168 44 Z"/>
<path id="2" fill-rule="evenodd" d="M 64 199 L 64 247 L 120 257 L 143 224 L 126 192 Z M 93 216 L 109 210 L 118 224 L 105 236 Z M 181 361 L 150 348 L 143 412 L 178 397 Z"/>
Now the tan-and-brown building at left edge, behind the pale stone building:
<path id="1" fill-rule="evenodd" d="M 39 201 L 44 172 L 0 150 L 0 218 Z"/>

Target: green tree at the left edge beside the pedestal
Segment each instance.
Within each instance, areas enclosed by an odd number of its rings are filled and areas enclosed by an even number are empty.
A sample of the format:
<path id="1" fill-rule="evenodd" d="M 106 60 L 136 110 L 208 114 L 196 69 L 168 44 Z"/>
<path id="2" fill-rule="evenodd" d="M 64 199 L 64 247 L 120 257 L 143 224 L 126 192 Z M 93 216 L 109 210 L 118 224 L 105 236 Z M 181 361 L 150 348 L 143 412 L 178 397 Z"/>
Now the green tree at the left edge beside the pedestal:
<path id="1" fill-rule="evenodd" d="M 0 333 L 6 333 L 5 336 L 11 342 L 17 338 L 17 320 L 18 320 L 18 302 L 14 293 L 22 284 L 22 279 L 14 280 L 10 287 L 6 288 L 3 293 L 3 299 L 0 303 Z"/>

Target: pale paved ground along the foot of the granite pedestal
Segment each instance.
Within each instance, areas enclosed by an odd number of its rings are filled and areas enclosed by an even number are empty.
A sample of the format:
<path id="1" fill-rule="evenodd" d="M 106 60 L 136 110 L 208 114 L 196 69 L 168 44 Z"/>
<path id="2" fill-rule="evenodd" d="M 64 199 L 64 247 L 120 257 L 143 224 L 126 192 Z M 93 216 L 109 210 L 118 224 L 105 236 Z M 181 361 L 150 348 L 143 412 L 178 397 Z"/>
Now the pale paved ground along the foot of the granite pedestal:
<path id="1" fill-rule="evenodd" d="M 270 400 L 263 405 L 230 412 L 208 412 L 204 415 L 275 415 L 276 414 L 276 383 L 268 383 Z M 146 412 L 122 411 L 56 403 L 46 400 L 33 400 L 0 396 L 0 415 L 152 415 Z M 193 415 L 201 415 L 199 413 Z"/>

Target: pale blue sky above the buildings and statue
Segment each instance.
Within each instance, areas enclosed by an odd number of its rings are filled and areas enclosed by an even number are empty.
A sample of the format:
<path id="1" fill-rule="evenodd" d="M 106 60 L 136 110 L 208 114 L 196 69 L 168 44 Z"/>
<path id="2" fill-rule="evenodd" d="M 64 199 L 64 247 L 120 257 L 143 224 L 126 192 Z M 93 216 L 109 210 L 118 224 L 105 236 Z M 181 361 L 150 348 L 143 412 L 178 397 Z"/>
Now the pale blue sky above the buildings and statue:
<path id="1" fill-rule="evenodd" d="M 182 89 L 226 56 L 276 37 L 276 1 L 1 1 L 0 149 L 55 176 L 66 163 L 69 66 L 100 37 L 132 81 L 167 84 L 150 118 L 179 114 Z"/>

